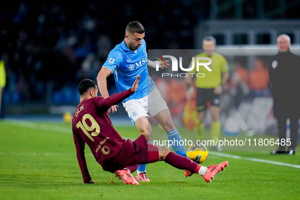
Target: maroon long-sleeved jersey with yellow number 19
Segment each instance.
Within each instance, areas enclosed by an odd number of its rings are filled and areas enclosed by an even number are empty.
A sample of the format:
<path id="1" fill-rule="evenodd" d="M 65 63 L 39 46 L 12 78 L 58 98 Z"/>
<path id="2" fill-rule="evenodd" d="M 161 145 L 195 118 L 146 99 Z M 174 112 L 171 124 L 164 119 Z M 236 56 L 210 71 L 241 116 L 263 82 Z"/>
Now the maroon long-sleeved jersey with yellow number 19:
<path id="1" fill-rule="evenodd" d="M 130 88 L 108 98 L 97 96 L 83 99 L 79 103 L 73 117 L 72 130 L 77 159 L 84 181 L 91 180 L 84 156 L 85 143 L 101 165 L 114 159 L 126 143 L 126 140 L 122 139 L 113 127 L 108 109 L 121 103 L 133 93 Z"/>

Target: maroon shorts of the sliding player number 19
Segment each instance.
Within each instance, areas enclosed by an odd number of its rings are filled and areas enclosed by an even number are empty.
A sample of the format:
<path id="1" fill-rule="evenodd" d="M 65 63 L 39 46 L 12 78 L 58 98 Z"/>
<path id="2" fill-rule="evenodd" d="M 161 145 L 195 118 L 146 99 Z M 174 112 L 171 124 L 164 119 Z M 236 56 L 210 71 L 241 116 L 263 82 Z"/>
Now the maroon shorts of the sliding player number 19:
<path id="1" fill-rule="evenodd" d="M 158 146 L 147 143 L 141 135 L 137 140 L 127 140 L 118 156 L 103 165 L 103 170 L 114 173 L 116 170 L 135 164 L 146 164 L 158 161 Z"/>

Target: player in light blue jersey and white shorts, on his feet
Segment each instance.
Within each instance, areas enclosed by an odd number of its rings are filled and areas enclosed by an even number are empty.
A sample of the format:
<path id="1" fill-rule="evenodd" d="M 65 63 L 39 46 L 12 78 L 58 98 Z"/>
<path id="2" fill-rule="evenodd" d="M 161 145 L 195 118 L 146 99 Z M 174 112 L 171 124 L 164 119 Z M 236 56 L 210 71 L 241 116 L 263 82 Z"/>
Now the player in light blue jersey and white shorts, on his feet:
<path id="1" fill-rule="evenodd" d="M 156 66 L 155 61 L 148 60 L 144 37 L 145 29 L 141 23 L 134 21 L 126 26 L 125 39 L 110 52 L 101 71 L 98 73 L 99 91 L 103 97 L 109 97 L 106 78 L 112 73 L 119 92 L 129 89 L 135 82 L 136 77 L 140 75 L 137 91 L 122 102 L 129 118 L 140 134 L 144 135 L 149 142 L 152 127 L 147 118 L 153 117 L 166 131 L 169 140 L 178 141 L 172 146 L 175 152 L 187 157 L 184 145 L 181 146 L 179 143 L 182 139 L 172 121 L 169 108 L 148 75 L 147 65 L 153 68 Z M 160 67 L 162 66 L 160 65 Z M 112 112 L 115 111 L 116 106 L 113 106 Z M 183 144 L 183 141 L 181 144 Z M 185 176 L 191 176 L 191 173 L 185 170 Z M 136 179 L 137 181 L 150 181 L 146 176 L 146 164 L 139 166 Z"/>

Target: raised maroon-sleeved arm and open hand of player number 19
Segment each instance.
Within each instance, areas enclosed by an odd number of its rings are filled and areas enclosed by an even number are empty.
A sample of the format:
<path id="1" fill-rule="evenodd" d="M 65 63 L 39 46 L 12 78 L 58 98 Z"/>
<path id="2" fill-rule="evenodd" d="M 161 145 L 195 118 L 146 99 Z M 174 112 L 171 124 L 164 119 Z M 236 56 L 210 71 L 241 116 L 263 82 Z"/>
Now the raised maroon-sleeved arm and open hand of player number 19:
<path id="1" fill-rule="evenodd" d="M 128 90 L 125 90 L 120 93 L 112 94 L 108 98 L 103 98 L 103 97 L 96 97 L 95 98 L 95 103 L 97 107 L 102 108 L 103 112 L 106 112 L 107 109 L 109 109 L 112 105 L 116 105 L 121 103 L 125 98 L 129 97 L 131 94 L 135 93 L 138 89 L 139 82 L 140 82 L 141 76 L 137 76 L 136 81 L 132 85 L 132 87 Z"/>

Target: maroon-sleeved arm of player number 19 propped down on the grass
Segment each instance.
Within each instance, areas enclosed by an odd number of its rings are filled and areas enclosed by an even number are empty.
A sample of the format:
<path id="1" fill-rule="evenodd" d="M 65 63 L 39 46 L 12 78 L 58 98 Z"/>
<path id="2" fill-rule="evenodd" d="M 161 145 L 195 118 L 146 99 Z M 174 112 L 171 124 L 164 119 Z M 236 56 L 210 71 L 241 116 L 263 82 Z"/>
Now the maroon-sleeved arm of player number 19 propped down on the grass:
<path id="1" fill-rule="evenodd" d="M 80 138 L 80 136 L 78 136 L 77 134 L 74 134 L 74 132 L 73 132 L 73 138 L 74 138 L 74 143 L 75 143 L 75 147 L 76 147 L 77 160 L 78 160 L 79 168 L 80 168 L 82 178 L 83 178 L 82 183 L 83 184 L 84 183 L 94 183 L 94 181 L 92 180 L 92 178 L 90 177 L 90 174 L 88 172 L 87 164 L 86 164 L 86 160 L 85 160 L 85 156 L 84 156 L 85 143 L 82 140 L 82 138 Z"/>

